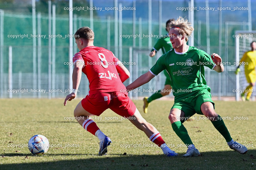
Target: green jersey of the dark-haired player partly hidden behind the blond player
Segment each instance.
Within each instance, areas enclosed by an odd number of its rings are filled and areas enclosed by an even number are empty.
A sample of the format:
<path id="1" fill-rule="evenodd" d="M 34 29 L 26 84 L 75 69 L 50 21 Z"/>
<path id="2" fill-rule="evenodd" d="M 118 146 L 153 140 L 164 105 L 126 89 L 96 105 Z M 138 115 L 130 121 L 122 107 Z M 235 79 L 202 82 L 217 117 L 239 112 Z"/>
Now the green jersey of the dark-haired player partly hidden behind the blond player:
<path id="1" fill-rule="evenodd" d="M 168 35 L 162 35 L 162 37 L 157 40 L 152 51 L 156 50 L 156 52 L 157 52 L 160 49 L 162 49 L 163 54 L 170 51 L 170 49 L 172 49 L 172 43 L 171 43 Z"/>

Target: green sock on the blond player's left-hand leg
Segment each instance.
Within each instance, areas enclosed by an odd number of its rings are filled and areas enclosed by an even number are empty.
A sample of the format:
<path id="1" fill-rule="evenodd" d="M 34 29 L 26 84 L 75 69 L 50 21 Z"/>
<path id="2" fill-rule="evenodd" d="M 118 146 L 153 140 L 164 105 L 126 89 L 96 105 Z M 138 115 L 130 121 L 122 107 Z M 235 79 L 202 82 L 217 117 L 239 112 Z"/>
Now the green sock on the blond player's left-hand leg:
<path id="1" fill-rule="evenodd" d="M 176 135 L 178 135 L 178 137 L 182 140 L 182 142 L 186 144 L 186 146 L 193 145 L 186 127 L 184 127 L 184 125 L 180 121 L 172 123 L 172 129 L 174 130 Z"/>

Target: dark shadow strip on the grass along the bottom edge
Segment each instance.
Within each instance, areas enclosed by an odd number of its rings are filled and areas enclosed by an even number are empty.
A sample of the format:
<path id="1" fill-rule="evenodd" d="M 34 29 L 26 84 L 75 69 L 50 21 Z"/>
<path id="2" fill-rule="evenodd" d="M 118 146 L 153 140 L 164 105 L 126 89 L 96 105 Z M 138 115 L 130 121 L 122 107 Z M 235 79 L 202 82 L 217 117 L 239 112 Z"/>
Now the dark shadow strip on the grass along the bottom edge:
<path id="1" fill-rule="evenodd" d="M 47 162 L 42 162 L 41 156 L 30 154 L 1 154 L 1 159 L 24 156 L 22 162 L 0 164 L 0 169 L 255 169 L 256 150 L 248 150 L 247 154 L 239 154 L 233 150 L 218 152 L 201 152 L 201 156 L 184 158 L 184 153 L 177 157 L 158 155 L 107 154 L 46 154 Z M 73 157 L 72 157 L 73 156 Z M 76 157 L 76 156 L 79 156 Z M 83 158 L 81 158 L 83 156 Z M 1 158 L 2 157 L 2 158 Z M 38 158 L 38 161 L 30 163 Z M 69 159 L 69 160 L 67 160 Z M 2 162 L 2 161 L 1 161 Z"/>

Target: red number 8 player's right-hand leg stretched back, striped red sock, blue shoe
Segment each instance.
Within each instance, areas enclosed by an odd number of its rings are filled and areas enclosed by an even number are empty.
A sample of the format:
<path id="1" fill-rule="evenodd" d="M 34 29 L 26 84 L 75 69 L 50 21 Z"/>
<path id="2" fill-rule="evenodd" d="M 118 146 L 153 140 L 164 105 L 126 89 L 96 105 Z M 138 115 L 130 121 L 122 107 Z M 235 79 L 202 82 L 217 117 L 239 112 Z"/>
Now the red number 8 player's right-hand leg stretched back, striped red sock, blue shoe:
<path id="1" fill-rule="evenodd" d="M 166 156 L 178 156 L 178 154 L 176 152 L 174 152 L 173 150 L 171 150 L 166 143 L 164 142 L 164 140 L 161 137 L 161 134 L 156 130 L 156 128 L 151 125 L 150 123 L 148 123 L 141 115 L 140 112 L 138 111 L 138 109 L 136 109 L 134 115 L 132 115 L 133 119 L 129 119 L 132 124 L 134 124 L 138 129 L 142 130 L 150 139 L 150 141 L 152 141 L 153 143 L 155 143 L 156 145 L 158 145 L 158 147 L 160 147 L 162 149 L 162 151 L 164 152 L 164 154 Z"/>

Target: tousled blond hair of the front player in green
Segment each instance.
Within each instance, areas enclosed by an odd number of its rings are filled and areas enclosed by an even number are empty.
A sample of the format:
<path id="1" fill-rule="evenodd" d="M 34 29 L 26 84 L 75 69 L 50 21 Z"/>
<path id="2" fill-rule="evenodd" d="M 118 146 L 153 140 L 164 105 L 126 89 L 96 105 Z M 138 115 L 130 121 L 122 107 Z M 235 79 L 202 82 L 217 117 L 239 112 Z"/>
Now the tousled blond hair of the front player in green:
<path id="1" fill-rule="evenodd" d="M 172 27 L 178 27 L 179 28 L 179 32 L 182 36 L 185 35 L 185 40 L 186 42 L 188 41 L 188 37 L 192 34 L 192 32 L 194 31 L 194 28 L 192 26 L 190 26 L 191 23 L 188 22 L 188 20 L 184 20 L 184 18 L 182 18 L 181 16 L 179 16 L 179 18 L 175 21 L 172 21 L 170 24 L 170 28 Z"/>

